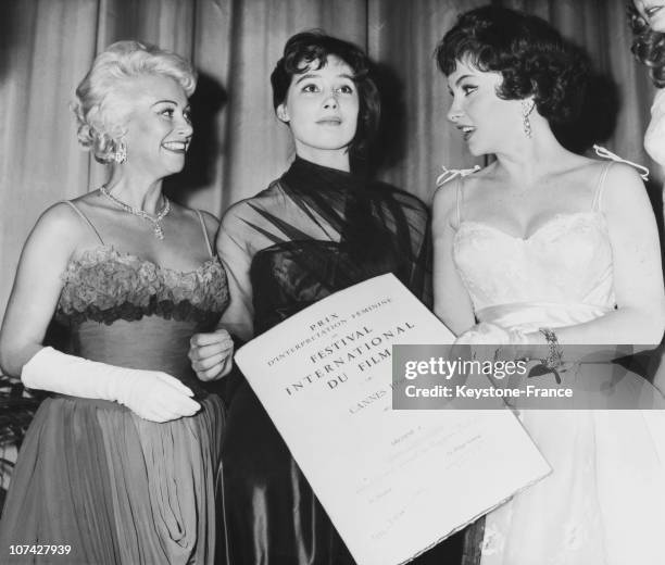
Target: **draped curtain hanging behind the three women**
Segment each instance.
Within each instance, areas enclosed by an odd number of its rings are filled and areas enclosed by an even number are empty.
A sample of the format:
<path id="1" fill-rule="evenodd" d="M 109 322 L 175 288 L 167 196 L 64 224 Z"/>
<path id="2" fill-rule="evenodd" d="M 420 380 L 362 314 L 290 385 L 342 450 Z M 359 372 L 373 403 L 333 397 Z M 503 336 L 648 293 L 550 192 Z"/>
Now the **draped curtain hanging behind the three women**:
<path id="1" fill-rule="evenodd" d="M 68 103 L 95 55 L 137 38 L 193 61 L 195 141 L 167 181 L 189 205 L 221 215 L 263 189 L 293 155 L 274 117 L 269 73 L 285 40 L 322 27 L 366 47 L 388 109 L 380 176 L 426 201 L 442 164 L 473 158 L 447 126 L 450 103 L 432 51 L 456 14 L 489 0 L 3 0 L 0 22 L 0 316 L 23 241 L 49 204 L 98 188 L 104 168 L 76 141 Z M 610 75 L 620 111 L 606 146 L 648 162 L 653 89 L 629 52 L 624 0 L 502 0 L 536 13 Z M 601 92 L 602 95 L 602 92 Z M 653 165 L 653 163 L 651 163 Z M 655 168 L 654 168 L 655 172 Z M 656 180 L 660 172 L 656 172 Z M 657 183 L 660 185 L 660 183 Z"/>

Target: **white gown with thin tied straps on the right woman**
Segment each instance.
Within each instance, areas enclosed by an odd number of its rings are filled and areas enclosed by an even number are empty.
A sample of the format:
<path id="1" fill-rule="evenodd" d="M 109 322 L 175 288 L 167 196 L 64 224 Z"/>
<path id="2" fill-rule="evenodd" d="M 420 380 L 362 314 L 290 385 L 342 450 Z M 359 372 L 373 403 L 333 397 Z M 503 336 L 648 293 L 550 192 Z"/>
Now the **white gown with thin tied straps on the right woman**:
<path id="1" fill-rule="evenodd" d="M 526 239 L 464 219 L 459 185 L 453 258 L 480 322 L 535 331 L 614 310 L 602 213 L 608 166 L 589 210 L 559 214 Z M 615 364 L 562 377 L 564 385 L 584 378 L 607 398 L 638 394 L 664 405 L 648 381 Z M 519 417 L 553 472 L 487 515 L 481 565 L 665 563 L 665 412 L 525 410 Z"/>

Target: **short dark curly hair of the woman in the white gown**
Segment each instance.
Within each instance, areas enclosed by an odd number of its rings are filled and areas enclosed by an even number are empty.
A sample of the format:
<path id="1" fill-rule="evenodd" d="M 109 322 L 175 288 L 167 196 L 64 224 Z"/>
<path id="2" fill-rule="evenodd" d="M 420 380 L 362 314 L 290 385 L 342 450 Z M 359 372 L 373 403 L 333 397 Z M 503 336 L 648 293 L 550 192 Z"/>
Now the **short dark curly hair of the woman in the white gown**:
<path id="1" fill-rule="evenodd" d="M 588 58 L 544 20 L 491 5 L 462 14 L 435 55 L 446 75 L 459 61 L 501 73 L 497 96 L 532 96 L 550 124 L 566 124 L 579 115 L 590 75 Z"/>

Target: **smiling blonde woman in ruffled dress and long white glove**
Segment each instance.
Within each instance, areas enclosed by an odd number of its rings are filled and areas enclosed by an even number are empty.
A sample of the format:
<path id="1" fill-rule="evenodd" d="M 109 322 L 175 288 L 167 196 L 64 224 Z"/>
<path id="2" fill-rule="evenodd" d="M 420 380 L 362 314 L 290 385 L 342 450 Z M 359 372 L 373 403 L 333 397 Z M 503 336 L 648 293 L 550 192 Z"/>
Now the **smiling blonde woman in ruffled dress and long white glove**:
<path id="1" fill-rule="evenodd" d="M 47 210 L 21 256 L 0 363 L 52 394 L 18 455 L 2 563 L 212 563 L 224 412 L 187 351 L 224 311 L 226 277 L 217 221 L 162 192 L 185 164 L 195 87 L 187 61 L 136 41 L 109 47 L 78 86 L 79 140 L 110 176 Z M 66 351 L 42 344 L 53 317 Z"/>

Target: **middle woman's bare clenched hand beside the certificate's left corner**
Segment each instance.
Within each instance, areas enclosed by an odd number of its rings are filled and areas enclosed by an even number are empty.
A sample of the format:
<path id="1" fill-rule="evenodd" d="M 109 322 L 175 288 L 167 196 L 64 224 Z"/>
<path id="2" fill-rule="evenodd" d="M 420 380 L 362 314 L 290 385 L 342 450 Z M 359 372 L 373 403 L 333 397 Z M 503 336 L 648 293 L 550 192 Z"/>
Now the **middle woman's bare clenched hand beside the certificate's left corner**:
<path id="1" fill-rule="evenodd" d="M 190 340 L 191 368 L 204 381 L 215 380 L 229 373 L 234 362 L 234 340 L 226 329 L 211 334 L 196 334 Z"/>

